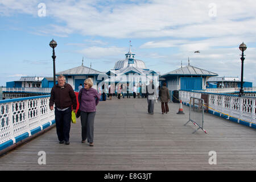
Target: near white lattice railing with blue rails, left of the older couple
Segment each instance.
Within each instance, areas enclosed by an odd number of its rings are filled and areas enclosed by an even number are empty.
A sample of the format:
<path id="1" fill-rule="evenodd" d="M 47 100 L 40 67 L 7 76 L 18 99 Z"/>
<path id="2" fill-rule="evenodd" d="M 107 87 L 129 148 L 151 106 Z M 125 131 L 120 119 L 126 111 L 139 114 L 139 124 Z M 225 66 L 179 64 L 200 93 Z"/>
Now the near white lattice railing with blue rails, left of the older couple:
<path id="1" fill-rule="evenodd" d="M 6 142 L 16 143 L 20 136 L 30 136 L 35 130 L 52 125 L 54 119 L 49 95 L 0 101 L 0 150 Z"/>

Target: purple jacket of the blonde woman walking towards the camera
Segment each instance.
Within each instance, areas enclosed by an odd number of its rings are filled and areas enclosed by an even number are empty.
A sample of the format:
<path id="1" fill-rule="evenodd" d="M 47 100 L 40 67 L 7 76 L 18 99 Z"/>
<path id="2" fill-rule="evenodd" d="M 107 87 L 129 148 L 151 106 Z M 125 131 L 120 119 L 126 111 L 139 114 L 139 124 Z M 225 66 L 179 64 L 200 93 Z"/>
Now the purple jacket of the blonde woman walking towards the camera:
<path id="1" fill-rule="evenodd" d="M 96 89 L 89 88 L 88 90 L 86 90 L 85 88 L 82 88 L 79 91 L 78 100 L 80 104 L 79 108 L 81 111 L 95 112 L 96 106 L 100 101 L 100 95 L 98 94 Z"/>

